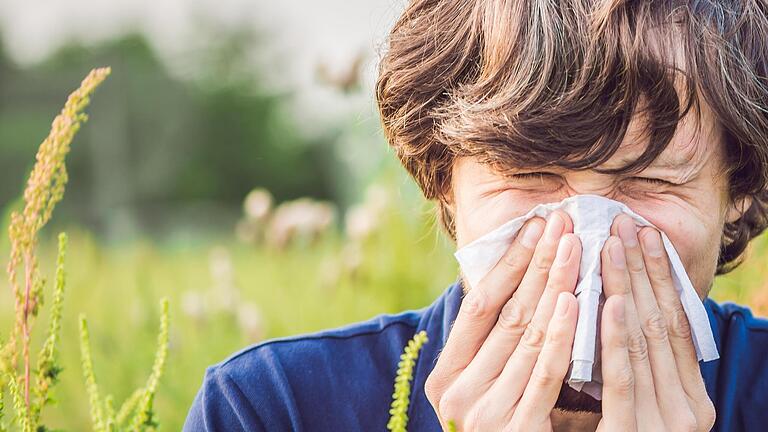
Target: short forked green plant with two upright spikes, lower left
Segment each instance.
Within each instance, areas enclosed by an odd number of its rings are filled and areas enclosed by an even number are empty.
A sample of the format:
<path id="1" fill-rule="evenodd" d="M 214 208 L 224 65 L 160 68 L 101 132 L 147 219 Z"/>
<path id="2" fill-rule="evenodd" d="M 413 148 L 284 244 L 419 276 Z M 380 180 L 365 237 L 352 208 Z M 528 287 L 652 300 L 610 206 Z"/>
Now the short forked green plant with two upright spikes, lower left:
<path id="1" fill-rule="evenodd" d="M 94 432 L 146 431 L 154 430 L 158 424 L 152 404 L 157 391 L 160 376 L 163 374 L 165 359 L 168 355 L 168 300 L 163 299 L 160 315 L 160 333 L 157 336 L 157 352 L 152 373 L 146 385 L 137 389 L 123 402 L 119 411 L 115 411 L 112 395 L 103 400 L 99 394 L 96 375 L 93 372 L 91 343 L 88 323 L 80 316 L 80 353 L 83 376 L 91 405 L 91 421 Z"/>

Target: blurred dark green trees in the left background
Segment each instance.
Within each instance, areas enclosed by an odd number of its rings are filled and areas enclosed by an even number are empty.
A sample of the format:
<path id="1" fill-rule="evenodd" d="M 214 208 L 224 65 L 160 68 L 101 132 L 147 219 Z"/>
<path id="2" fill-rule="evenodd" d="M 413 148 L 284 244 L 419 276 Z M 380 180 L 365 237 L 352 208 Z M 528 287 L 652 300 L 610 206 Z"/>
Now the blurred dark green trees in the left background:
<path id="1" fill-rule="evenodd" d="M 59 221 L 108 237 L 215 225 L 230 229 L 243 197 L 333 199 L 332 138 L 307 139 L 253 62 L 253 32 L 232 29 L 196 52 L 199 70 L 171 74 L 138 34 L 96 46 L 71 42 L 19 67 L 0 50 L 0 208 L 22 190 L 66 89 L 92 67 L 113 75 L 73 143 Z M 2 44 L 0 43 L 0 46 Z"/>

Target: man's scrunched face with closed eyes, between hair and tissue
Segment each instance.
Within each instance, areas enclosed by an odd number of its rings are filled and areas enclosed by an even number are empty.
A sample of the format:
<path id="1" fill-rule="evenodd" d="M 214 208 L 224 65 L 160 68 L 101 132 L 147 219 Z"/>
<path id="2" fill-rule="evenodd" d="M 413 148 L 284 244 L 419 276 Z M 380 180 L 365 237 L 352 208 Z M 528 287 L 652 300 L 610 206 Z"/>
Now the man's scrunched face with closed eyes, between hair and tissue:
<path id="1" fill-rule="evenodd" d="M 704 298 L 714 280 L 723 225 L 740 213 L 729 205 L 727 179 L 720 174 L 721 129 L 702 104 L 697 134 L 693 113 L 681 121 L 654 163 L 635 174 L 514 167 L 502 174 L 474 158 L 459 158 L 453 166 L 450 203 L 457 248 L 538 204 L 577 194 L 602 195 L 626 204 L 667 234 Z M 636 159 L 647 145 L 642 140 L 635 116 L 619 150 L 599 168 L 616 168 Z"/>

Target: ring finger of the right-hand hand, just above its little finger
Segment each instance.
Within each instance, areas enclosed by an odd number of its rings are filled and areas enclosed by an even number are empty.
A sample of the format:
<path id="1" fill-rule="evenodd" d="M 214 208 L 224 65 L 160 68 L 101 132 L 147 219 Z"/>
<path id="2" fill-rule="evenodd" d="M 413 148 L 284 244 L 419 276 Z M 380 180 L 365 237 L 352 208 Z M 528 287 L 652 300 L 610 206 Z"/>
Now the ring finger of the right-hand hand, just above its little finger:
<path id="1" fill-rule="evenodd" d="M 637 308 L 632 298 L 624 246 L 618 237 L 610 236 L 606 240 L 601 254 L 601 263 L 605 296 L 619 295 L 624 299 L 627 352 L 634 376 L 637 411 L 644 420 L 660 419 L 656 403 L 656 390 L 653 385 L 653 374 L 648 361 L 648 344 L 640 328 Z"/>

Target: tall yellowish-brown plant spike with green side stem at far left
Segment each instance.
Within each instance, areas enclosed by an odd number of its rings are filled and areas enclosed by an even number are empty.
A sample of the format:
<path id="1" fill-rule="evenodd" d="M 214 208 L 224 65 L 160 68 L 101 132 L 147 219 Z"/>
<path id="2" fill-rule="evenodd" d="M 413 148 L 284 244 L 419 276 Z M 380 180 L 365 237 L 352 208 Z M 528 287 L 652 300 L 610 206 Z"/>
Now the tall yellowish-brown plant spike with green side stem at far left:
<path id="1" fill-rule="evenodd" d="M 10 425 L 15 423 L 24 432 L 46 430 L 45 426 L 40 425 L 40 413 L 51 402 L 50 388 L 58 380 L 61 370 L 56 363 L 56 352 L 64 294 L 66 237 L 63 235 L 59 236 L 56 286 L 48 335 L 38 355 L 37 368 L 34 371 L 32 369 L 32 326 L 43 303 L 46 283 L 37 262 L 38 233 L 48 223 L 54 207 L 64 196 L 68 180 L 64 161 L 70 144 L 82 123 L 88 119 L 83 111 L 90 102 L 91 94 L 109 73 L 109 68 L 92 70 L 80 87 L 69 95 L 61 113 L 53 120 L 50 133 L 38 149 L 35 165 L 22 196 L 24 208 L 12 212 L 10 216 L 8 238 L 11 254 L 7 270 L 16 313 L 8 341 L 0 348 L 0 400 L 7 387 L 14 414 Z M 5 431 L 8 427 L 2 422 L 0 412 L 0 430 Z"/>

